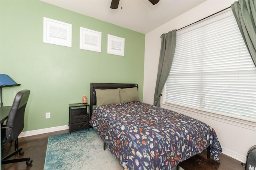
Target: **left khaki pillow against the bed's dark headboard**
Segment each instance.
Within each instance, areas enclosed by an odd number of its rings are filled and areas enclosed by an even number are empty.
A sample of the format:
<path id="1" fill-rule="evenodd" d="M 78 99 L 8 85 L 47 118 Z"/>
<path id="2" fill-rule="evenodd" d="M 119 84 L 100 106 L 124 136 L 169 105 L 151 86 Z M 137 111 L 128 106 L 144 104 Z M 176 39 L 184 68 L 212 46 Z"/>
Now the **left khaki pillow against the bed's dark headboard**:
<path id="1" fill-rule="evenodd" d="M 96 91 L 96 106 L 112 105 L 120 103 L 118 89 L 95 89 Z"/>

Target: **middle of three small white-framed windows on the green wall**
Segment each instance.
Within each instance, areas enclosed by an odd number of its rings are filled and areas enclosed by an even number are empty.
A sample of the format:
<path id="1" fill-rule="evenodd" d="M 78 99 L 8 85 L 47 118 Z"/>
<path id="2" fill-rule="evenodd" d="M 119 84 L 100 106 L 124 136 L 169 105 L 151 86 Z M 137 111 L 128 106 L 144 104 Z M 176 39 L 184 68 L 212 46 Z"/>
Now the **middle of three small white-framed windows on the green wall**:
<path id="1" fill-rule="evenodd" d="M 101 32 L 80 27 L 80 49 L 101 52 Z"/>

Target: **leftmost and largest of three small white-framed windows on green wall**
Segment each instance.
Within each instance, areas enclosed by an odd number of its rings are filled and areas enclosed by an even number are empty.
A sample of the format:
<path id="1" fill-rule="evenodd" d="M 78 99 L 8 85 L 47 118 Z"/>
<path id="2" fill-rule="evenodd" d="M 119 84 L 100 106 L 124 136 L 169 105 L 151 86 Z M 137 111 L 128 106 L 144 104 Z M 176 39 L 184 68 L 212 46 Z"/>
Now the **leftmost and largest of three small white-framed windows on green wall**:
<path id="1" fill-rule="evenodd" d="M 44 17 L 44 43 L 72 47 L 72 24 Z"/>

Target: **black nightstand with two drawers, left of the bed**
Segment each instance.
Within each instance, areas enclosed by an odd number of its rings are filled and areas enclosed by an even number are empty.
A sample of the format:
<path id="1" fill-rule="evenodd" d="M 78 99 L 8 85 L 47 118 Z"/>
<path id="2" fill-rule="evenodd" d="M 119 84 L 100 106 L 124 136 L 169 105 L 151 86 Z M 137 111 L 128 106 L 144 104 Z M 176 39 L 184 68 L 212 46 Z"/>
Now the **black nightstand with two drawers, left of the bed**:
<path id="1" fill-rule="evenodd" d="M 69 134 L 71 134 L 72 131 L 89 128 L 89 106 L 90 105 L 83 103 L 69 104 Z"/>

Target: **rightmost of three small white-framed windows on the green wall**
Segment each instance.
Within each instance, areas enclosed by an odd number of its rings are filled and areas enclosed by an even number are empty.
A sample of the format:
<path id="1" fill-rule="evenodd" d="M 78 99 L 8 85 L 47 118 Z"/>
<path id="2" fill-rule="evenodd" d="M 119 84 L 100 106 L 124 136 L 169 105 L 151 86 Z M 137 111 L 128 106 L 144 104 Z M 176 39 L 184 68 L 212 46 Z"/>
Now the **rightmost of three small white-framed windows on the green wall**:
<path id="1" fill-rule="evenodd" d="M 108 34 L 108 53 L 124 56 L 124 38 Z"/>

